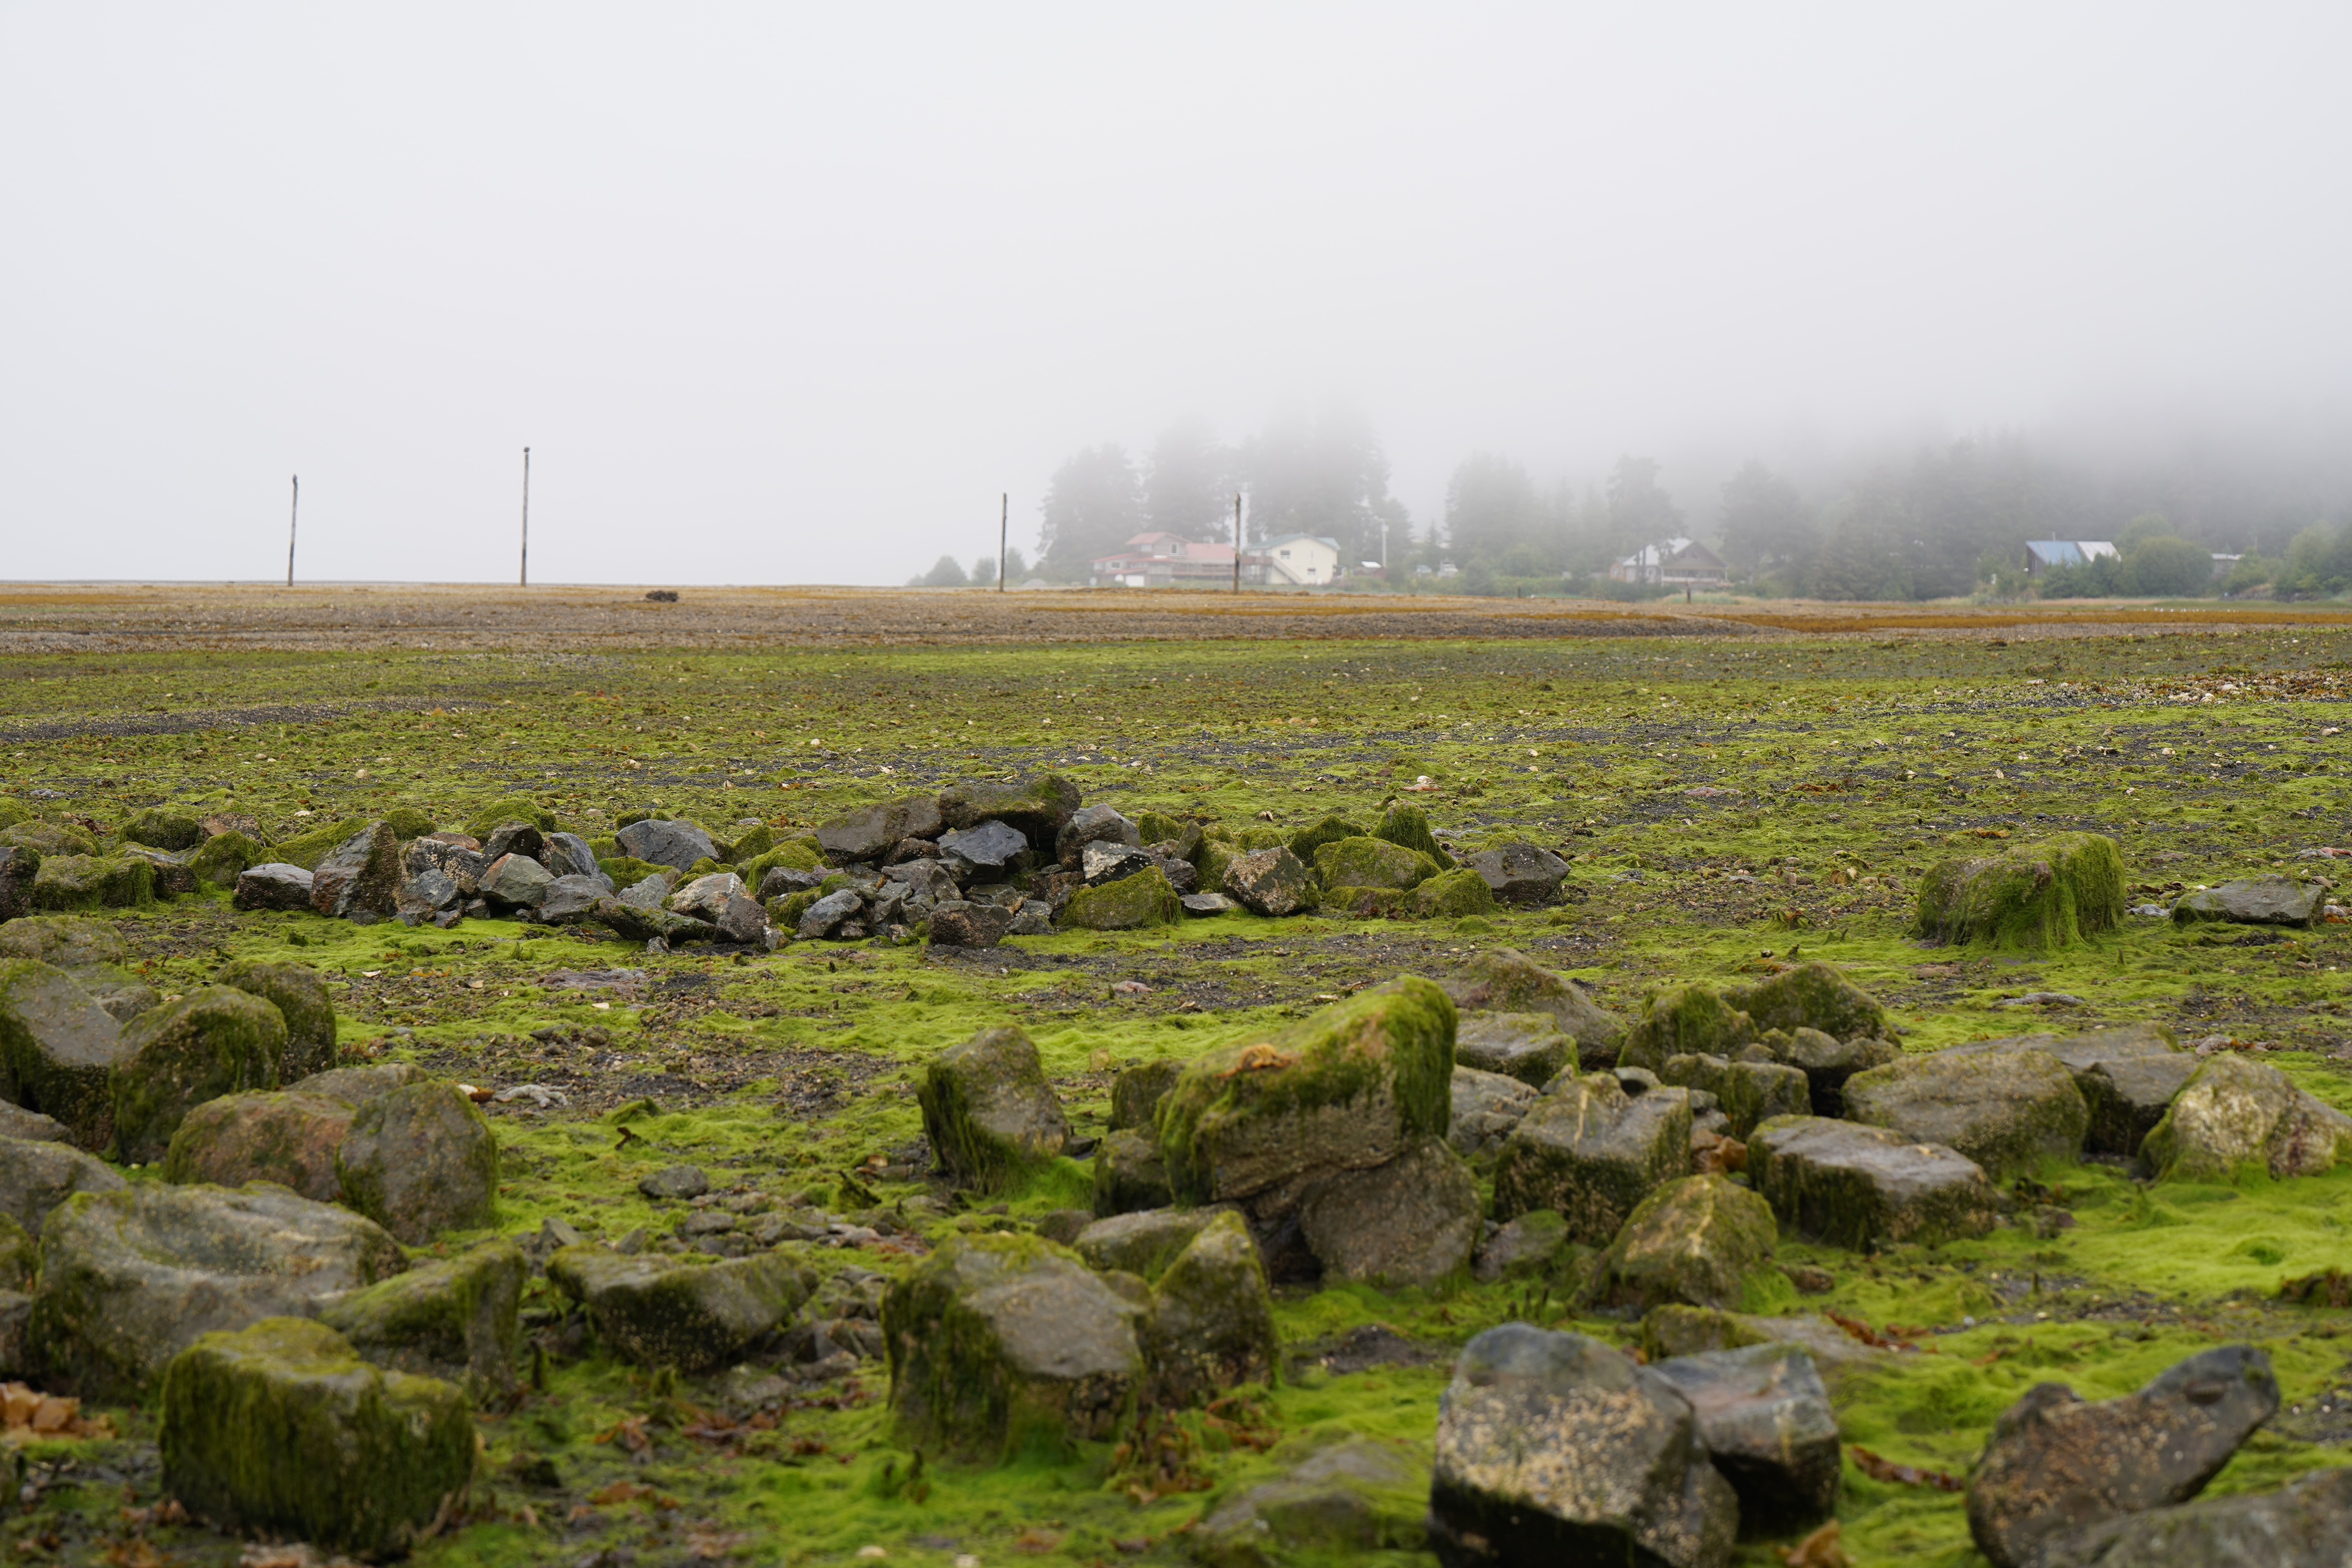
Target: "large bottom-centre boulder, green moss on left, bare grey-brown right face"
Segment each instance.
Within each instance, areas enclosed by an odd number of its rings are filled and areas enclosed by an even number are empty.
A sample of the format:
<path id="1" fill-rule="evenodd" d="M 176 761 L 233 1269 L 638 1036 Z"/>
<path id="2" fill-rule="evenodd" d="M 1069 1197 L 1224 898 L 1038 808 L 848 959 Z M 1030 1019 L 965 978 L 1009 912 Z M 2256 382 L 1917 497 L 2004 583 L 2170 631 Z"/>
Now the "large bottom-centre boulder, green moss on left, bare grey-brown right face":
<path id="1" fill-rule="evenodd" d="M 1040 1237 L 955 1237 L 882 1298 L 889 1403 L 924 1453 L 995 1462 L 1112 1436 L 1150 1312 Z"/>

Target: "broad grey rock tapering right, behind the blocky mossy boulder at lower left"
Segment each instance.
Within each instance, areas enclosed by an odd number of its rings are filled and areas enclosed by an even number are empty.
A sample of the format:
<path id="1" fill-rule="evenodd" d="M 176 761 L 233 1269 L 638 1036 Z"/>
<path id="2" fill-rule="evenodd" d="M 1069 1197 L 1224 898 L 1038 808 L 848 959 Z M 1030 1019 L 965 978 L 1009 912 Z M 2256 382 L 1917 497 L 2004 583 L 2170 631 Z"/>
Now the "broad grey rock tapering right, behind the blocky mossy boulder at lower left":
<path id="1" fill-rule="evenodd" d="M 405 1267 L 374 1220 L 268 1182 L 82 1192 L 42 1227 L 28 1333 L 80 1392 L 132 1396 L 202 1333 L 308 1316 Z"/>

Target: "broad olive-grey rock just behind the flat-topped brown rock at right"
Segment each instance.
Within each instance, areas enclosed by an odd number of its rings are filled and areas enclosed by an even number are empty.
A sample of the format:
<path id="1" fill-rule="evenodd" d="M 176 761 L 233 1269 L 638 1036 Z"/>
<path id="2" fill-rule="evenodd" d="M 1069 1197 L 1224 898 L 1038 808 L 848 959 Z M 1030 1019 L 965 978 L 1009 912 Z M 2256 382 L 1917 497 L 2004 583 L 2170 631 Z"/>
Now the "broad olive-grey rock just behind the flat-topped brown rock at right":
<path id="1" fill-rule="evenodd" d="M 2074 1074 L 2046 1051 L 1905 1056 L 1844 1086 L 1846 1119 L 1912 1143 L 1940 1143 L 1994 1180 L 2044 1159 L 2079 1159 L 2091 1107 Z"/>

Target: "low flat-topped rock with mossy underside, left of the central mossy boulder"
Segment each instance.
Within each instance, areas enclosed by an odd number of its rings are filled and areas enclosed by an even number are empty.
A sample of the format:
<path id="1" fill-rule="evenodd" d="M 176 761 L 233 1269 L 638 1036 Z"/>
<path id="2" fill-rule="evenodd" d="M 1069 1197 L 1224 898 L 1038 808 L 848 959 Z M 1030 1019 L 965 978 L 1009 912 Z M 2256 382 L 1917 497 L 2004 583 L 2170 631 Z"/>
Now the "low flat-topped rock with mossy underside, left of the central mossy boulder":
<path id="1" fill-rule="evenodd" d="M 548 1281 L 588 1309 L 604 1349 L 682 1373 L 727 1366 L 816 1291 L 816 1274 L 786 1253 L 701 1262 L 623 1258 L 602 1246 L 560 1248 L 548 1258 Z"/>

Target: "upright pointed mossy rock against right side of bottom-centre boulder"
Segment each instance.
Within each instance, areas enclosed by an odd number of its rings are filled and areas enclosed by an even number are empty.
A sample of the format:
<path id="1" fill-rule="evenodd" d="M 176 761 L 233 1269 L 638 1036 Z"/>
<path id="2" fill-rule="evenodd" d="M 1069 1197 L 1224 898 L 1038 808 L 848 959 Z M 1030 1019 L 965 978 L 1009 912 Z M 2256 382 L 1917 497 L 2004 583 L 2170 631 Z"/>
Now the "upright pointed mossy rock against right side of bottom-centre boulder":
<path id="1" fill-rule="evenodd" d="M 1240 1382 L 1272 1382 L 1282 1340 L 1258 1244 L 1242 1215 L 1209 1218 L 1152 1286 L 1143 1331 L 1160 1403 L 1197 1403 Z"/>

